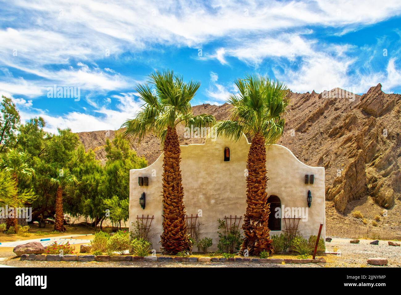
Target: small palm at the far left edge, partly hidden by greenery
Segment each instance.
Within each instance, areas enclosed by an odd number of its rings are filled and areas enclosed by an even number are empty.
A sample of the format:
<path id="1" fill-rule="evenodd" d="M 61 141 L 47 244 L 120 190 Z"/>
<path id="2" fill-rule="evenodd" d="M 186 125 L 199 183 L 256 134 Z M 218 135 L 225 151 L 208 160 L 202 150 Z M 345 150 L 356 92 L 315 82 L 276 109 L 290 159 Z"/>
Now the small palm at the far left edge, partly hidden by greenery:
<path id="1" fill-rule="evenodd" d="M 7 153 L 2 154 L 1 156 L 0 168 L 11 174 L 12 179 L 14 180 L 16 191 L 18 191 L 18 180 L 21 180 L 24 183 L 30 183 L 33 175 L 35 174 L 35 170 L 30 168 L 28 165 L 29 159 L 29 153 L 18 152 L 16 149 L 10 149 L 7 151 Z M 18 193 L 16 193 L 13 200 L 14 218 L 6 219 L 7 229 L 10 228 L 10 226 L 14 226 L 14 228 L 16 228 L 18 225 L 18 219 L 16 218 L 17 212 L 15 208 L 19 203 Z"/>

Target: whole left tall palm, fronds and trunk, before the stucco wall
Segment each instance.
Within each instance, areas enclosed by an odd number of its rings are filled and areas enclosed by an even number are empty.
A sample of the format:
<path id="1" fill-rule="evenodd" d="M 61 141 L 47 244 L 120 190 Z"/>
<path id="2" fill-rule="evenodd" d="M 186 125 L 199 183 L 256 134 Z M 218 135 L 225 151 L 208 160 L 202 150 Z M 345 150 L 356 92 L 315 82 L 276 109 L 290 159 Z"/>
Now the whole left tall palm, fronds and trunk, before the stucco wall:
<path id="1" fill-rule="evenodd" d="M 180 123 L 196 127 L 215 124 L 215 118 L 211 115 L 192 114 L 190 101 L 200 85 L 193 81 L 184 83 L 182 76 L 170 70 L 152 73 L 148 83 L 136 87 L 144 105 L 134 119 L 123 124 L 126 136 L 141 140 L 148 132 L 153 132 L 163 145 L 163 233 L 160 243 L 164 253 L 176 254 L 192 250 L 185 224 L 181 150 L 176 126 Z"/>

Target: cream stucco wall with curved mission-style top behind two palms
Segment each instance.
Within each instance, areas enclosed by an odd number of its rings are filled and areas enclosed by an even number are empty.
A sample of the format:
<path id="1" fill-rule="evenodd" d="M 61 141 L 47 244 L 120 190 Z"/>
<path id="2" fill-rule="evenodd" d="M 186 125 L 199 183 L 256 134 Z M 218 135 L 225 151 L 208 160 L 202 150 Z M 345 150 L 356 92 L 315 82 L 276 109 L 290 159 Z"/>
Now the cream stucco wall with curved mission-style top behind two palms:
<path id="1" fill-rule="evenodd" d="M 230 161 L 224 162 L 223 151 L 230 148 Z M 208 140 L 206 144 L 181 146 L 182 185 L 186 213 L 195 216 L 199 210 L 202 217 L 204 236 L 213 239 L 209 250 L 217 250 L 217 220 L 227 216 L 241 216 L 246 208 L 245 169 L 250 144 L 243 136 L 238 142 L 226 138 Z M 323 223 L 322 238 L 325 238 L 325 189 L 324 167 L 310 167 L 300 162 L 284 146 L 273 144 L 266 148 L 268 169 L 267 191 L 277 195 L 285 207 L 307 208 L 308 190 L 312 193 L 312 205 L 308 208 L 308 220 L 299 222 L 300 234 L 305 238 L 318 234 Z M 156 233 L 153 248 L 160 251 L 162 233 L 162 164 L 163 154 L 150 166 L 130 170 L 130 230 L 136 217 L 154 216 L 152 232 Z M 314 175 L 314 184 L 305 184 L 305 174 Z M 138 177 L 149 177 L 148 186 L 139 186 Z M 141 193 L 146 194 L 146 206 L 139 205 Z M 282 230 L 285 223 L 282 220 Z M 272 231 L 271 234 L 279 234 Z"/>

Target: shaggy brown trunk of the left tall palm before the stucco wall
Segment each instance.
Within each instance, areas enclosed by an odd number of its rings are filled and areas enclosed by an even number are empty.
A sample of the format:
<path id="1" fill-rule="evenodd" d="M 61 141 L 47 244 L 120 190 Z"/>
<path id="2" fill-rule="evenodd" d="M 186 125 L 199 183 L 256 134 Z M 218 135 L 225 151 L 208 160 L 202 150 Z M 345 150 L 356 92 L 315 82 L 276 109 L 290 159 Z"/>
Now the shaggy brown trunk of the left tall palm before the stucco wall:
<path id="1" fill-rule="evenodd" d="M 184 190 L 180 171 L 180 143 L 175 128 L 167 128 L 163 159 L 163 233 L 162 252 L 177 254 L 191 251 L 185 223 Z"/>

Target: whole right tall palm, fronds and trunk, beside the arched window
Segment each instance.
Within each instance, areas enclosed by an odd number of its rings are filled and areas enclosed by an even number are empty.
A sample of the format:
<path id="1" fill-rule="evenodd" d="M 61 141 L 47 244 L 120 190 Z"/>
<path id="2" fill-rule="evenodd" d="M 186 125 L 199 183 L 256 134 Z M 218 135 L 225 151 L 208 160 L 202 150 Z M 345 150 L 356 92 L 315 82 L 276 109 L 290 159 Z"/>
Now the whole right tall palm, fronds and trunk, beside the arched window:
<path id="1" fill-rule="evenodd" d="M 239 140 L 242 134 L 252 137 L 247 159 L 247 209 L 244 215 L 244 239 L 240 252 L 249 255 L 262 251 L 272 252 L 268 219 L 270 204 L 267 201 L 266 144 L 277 141 L 283 133 L 284 118 L 289 101 L 287 87 L 268 77 L 247 75 L 235 81 L 239 92 L 229 96 L 233 105 L 231 120 L 215 125 L 217 135 Z"/>

